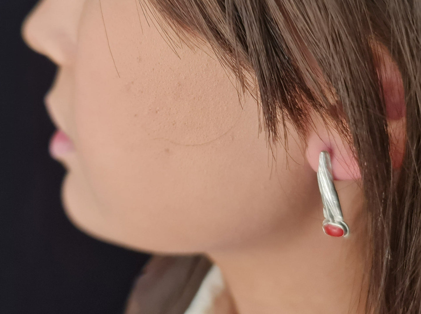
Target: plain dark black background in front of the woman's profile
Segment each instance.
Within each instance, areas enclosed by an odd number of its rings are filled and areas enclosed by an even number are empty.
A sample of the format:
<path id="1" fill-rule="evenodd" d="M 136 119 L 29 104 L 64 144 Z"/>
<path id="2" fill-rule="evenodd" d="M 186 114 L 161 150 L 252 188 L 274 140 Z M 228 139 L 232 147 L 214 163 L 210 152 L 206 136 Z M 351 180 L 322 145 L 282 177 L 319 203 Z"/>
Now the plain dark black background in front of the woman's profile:
<path id="1" fill-rule="evenodd" d="M 63 212 L 43 104 L 56 69 L 20 38 L 35 3 L 0 0 L 0 314 L 122 313 L 148 256 L 86 236 Z"/>

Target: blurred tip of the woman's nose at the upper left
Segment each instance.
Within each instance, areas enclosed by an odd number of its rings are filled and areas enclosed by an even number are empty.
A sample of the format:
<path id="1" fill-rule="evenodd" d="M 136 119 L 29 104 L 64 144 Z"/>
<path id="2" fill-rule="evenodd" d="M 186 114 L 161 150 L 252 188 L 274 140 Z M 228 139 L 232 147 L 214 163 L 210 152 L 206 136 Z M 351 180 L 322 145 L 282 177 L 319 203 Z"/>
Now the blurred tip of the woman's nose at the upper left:
<path id="1" fill-rule="evenodd" d="M 59 65 L 71 64 L 77 47 L 81 0 L 43 0 L 22 24 L 22 38 L 29 47 Z"/>

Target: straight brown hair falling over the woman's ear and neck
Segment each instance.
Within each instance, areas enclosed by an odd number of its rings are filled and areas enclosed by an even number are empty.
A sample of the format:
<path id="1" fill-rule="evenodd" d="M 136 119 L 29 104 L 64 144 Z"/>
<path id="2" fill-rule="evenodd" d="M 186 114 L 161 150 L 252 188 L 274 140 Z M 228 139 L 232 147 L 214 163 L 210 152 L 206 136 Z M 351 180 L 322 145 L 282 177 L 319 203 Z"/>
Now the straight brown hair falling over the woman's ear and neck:
<path id="1" fill-rule="evenodd" d="M 139 0 L 140 3 L 140 0 Z M 371 259 L 366 312 L 421 311 L 421 4 L 415 0 L 150 0 L 186 45 L 206 40 L 242 91 L 256 97 L 269 143 L 292 122 L 302 138 L 310 113 L 353 149 L 365 195 Z M 145 13 L 145 11 L 144 11 Z M 163 25 L 161 25 L 162 27 Z M 165 29 L 165 27 L 163 28 Z M 165 32 L 166 35 L 168 35 Z M 373 41 L 396 62 L 405 89 L 406 148 L 392 169 L 386 106 Z M 173 41 L 173 44 L 176 44 Z M 303 52 L 334 91 L 332 102 Z M 248 80 L 248 73 L 256 82 Z M 260 118 L 260 117 L 259 117 Z M 329 122 L 328 122 L 329 121 Z M 286 132 L 284 141 L 287 141 Z M 286 144 L 286 143 L 284 143 Z"/>

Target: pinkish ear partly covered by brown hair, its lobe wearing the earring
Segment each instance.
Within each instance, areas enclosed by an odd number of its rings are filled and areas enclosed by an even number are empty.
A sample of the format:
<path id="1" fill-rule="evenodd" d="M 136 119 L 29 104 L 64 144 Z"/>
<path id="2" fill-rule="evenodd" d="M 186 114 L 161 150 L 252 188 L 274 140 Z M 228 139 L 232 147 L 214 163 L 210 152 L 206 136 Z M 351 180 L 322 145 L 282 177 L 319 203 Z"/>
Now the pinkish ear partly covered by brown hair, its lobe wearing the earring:
<path id="1" fill-rule="evenodd" d="M 397 64 L 385 46 L 373 43 L 373 55 L 380 82 L 380 95 L 386 106 L 388 123 L 390 158 L 394 169 L 400 168 L 405 148 L 405 93 L 402 75 Z M 360 169 L 351 149 L 341 139 L 338 132 L 322 123 L 321 119 L 314 119 L 315 129 L 307 139 L 306 158 L 312 169 L 317 172 L 319 154 L 322 150 L 330 153 L 332 174 L 334 180 L 357 180 L 361 177 Z"/>

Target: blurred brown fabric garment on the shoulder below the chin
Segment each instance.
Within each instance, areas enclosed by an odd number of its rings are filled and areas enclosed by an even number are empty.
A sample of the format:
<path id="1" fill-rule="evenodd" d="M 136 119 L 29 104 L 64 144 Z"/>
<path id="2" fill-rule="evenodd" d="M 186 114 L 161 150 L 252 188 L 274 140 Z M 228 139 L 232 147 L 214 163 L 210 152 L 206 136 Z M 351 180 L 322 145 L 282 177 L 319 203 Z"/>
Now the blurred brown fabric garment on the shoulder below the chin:
<path id="1" fill-rule="evenodd" d="M 153 256 L 136 279 L 124 314 L 184 314 L 211 266 L 202 255 Z"/>

